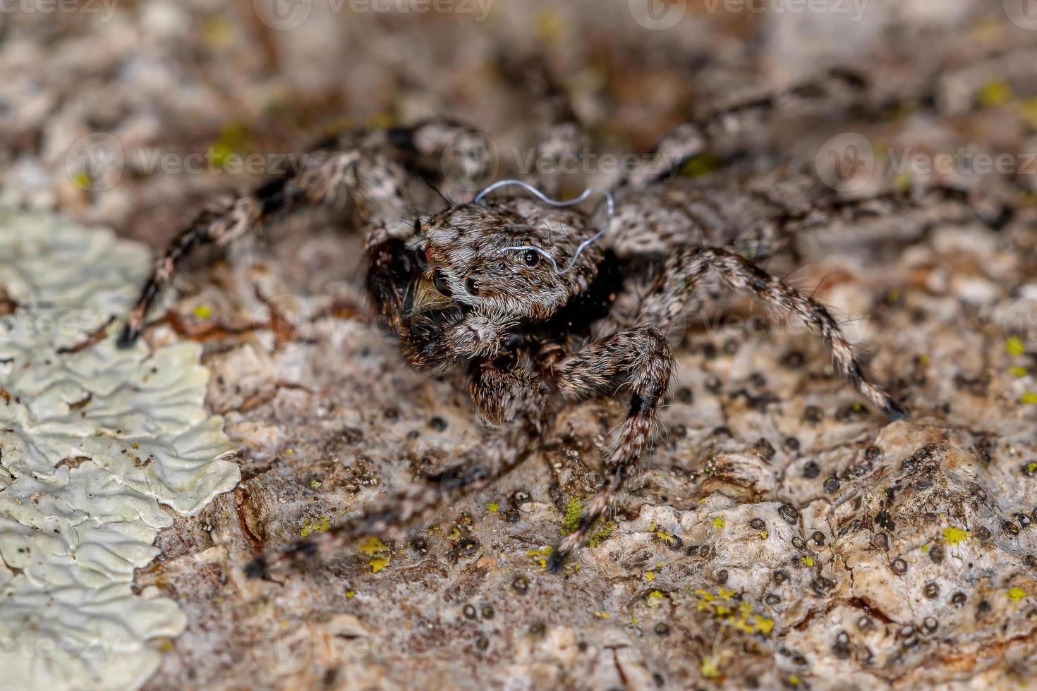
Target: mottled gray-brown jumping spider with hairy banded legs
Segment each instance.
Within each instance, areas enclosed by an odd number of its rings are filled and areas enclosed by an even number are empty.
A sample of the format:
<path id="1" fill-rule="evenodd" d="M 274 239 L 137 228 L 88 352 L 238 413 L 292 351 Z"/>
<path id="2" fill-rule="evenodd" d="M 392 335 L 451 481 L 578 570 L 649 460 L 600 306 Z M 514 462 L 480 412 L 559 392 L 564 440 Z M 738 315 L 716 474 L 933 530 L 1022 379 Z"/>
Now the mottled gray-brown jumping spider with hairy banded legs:
<path id="1" fill-rule="evenodd" d="M 760 109 L 775 103 L 823 100 L 833 91 L 860 87 L 857 78 L 834 73 L 769 103 L 682 125 L 663 140 L 657 156 L 670 156 L 667 170 L 672 172 L 705 150 L 714 132 L 730 129 L 732 120 L 751 123 Z M 615 212 L 607 219 L 515 186 L 416 217 L 410 206 L 414 191 L 427 195 L 421 183 L 442 177 L 443 152 L 467 133 L 464 125 L 437 120 L 352 133 L 318 147 L 293 174 L 202 213 L 158 261 L 128 319 L 123 345 L 139 337 L 149 306 L 192 249 L 226 246 L 306 206 L 347 203 L 353 223 L 364 232 L 370 301 L 403 356 L 421 372 L 463 373 L 476 414 L 494 428 L 463 462 L 316 541 L 260 557 L 250 565 L 250 574 L 263 574 L 276 562 L 318 547 L 364 536 L 396 537 L 408 524 L 515 467 L 549 432 L 560 401 L 623 390 L 626 412 L 606 454 L 602 484 L 578 528 L 552 553 L 550 568 L 557 571 L 613 507 L 647 453 L 674 374 L 666 334 L 674 320 L 701 308 L 703 291 L 696 287 L 710 271 L 803 319 L 831 352 L 835 370 L 866 401 L 890 419 L 905 414 L 864 372 L 833 315 L 761 269 L 754 258 L 772 254 L 804 228 L 895 212 L 918 199 L 888 193 L 852 200 L 812 176 L 782 182 L 736 170 L 736 186 L 741 186 L 733 193 L 732 173 L 672 180 L 665 174 L 627 176 L 613 188 Z M 789 192 L 793 188 L 796 194 Z M 805 197 L 809 204 L 802 202 Z M 971 213 L 966 205 L 958 207 Z M 647 277 L 648 289 L 624 313 L 615 296 L 635 276 Z"/>

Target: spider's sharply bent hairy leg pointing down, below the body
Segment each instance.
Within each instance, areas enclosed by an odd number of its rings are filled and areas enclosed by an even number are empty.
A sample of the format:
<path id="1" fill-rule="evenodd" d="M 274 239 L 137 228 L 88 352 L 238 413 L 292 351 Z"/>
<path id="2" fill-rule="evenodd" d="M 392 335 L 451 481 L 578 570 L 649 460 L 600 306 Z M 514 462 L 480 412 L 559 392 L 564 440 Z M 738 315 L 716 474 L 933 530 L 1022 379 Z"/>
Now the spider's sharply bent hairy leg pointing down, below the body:
<path id="1" fill-rule="evenodd" d="M 607 455 L 601 487 L 581 513 L 577 529 L 552 552 L 552 571 L 561 569 L 565 558 L 584 543 L 597 519 L 608 514 L 623 484 L 637 472 L 652 440 L 673 371 L 670 344 L 650 325 L 616 332 L 555 365 L 556 385 L 565 396 L 580 397 L 628 385 L 630 397 L 626 416 Z"/>

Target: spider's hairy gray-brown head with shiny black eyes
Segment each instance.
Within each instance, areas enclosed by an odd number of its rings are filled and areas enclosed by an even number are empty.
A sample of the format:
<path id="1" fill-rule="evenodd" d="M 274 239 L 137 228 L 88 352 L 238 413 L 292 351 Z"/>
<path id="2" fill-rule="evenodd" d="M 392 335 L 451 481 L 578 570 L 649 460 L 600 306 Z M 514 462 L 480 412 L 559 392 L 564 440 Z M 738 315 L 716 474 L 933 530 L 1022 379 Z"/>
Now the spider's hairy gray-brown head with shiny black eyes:
<path id="1" fill-rule="evenodd" d="M 417 221 L 415 230 L 372 257 L 368 283 L 419 370 L 442 373 L 498 354 L 510 336 L 535 330 L 584 293 L 601 259 L 595 246 L 577 254 L 596 232 L 586 215 L 530 199 L 451 207 Z M 544 256 L 576 263 L 559 273 Z M 384 277 L 391 264 L 398 268 Z"/>

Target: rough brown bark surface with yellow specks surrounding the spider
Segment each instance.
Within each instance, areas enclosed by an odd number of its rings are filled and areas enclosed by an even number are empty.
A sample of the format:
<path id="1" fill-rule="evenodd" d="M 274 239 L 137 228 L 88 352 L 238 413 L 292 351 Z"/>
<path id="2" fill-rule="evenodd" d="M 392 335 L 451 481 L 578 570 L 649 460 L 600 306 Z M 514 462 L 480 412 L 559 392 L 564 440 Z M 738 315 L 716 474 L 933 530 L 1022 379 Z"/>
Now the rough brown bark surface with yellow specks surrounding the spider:
<path id="1" fill-rule="evenodd" d="M 1004 75 L 998 55 L 1035 36 L 1000 3 L 872 2 L 838 41 L 816 17 L 690 4 L 680 28 L 657 31 L 623 6 L 634 2 L 495 3 L 485 22 L 310 4 L 321 21 L 295 29 L 204 0 L 139 0 L 108 23 L 58 28 L 16 18 L 25 37 L 0 47 L 0 66 L 19 75 L 0 87 L 16 106 L 0 116 L 5 185 L 158 248 L 200 200 L 258 175 L 148 172 L 141 151 L 224 161 L 298 151 L 335 118 L 454 115 L 494 134 L 503 177 L 521 168 L 509 152 L 528 151 L 554 117 L 543 74 L 560 79 L 595 146 L 624 152 L 649 149 L 692 112 L 847 62 L 879 93 L 924 87 L 925 97 L 880 118 L 761 126 L 754 147 L 808 163 L 846 133 L 863 133 L 884 161 L 958 146 L 1018 161 L 1034 148 L 1033 75 L 1025 60 Z M 122 165 L 68 169 L 66 152 L 99 131 L 116 137 Z M 582 172 L 608 177 L 594 164 Z M 929 177 L 876 174 L 859 192 Z M 723 298 L 672 335 L 681 367 L 661 441 L 615 520 L 561 576 L 543 571 L 545 548 L 596 485 L 614 401 L 565 409 L 542 453 L 407 539 L 247 580 L 258 550 L 327 529 L 483 431 L 455 381 L 418 377 L 369 326 L 354 229 L 296 220 L 189 272 L 173 329 L 149 333 L 150 345 L 204 344 L 207 406 L 242 450 L 243 482 L 197 516 L 172 517 L 136 573 L 137 587 L 187 615 L 146 687 L 1032 683 L 1037 236 L 1027 204 L 1037 186 L 1025 171 L 947 177 L 1031 196 L 1014 197 L 1000 231 L 862 223 L 797 238 L 768 264 L 847 319 L 912 418 L 888 424 L 862 408 L 802 328 Z"/>

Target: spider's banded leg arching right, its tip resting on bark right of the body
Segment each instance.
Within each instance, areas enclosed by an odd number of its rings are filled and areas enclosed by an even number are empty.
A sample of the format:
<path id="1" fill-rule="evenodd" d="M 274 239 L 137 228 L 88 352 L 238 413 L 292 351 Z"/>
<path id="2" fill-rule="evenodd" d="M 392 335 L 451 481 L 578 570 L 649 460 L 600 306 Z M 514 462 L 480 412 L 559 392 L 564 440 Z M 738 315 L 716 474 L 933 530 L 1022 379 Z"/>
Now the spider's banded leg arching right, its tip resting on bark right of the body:
<path id="1" fill-rule="evenodd" d="M 726 283 L 755 295 L 765 306 L 791 312 L 803 319 L 832 353 L 836 371 L 868 402 L 891 420 L 906 416 L 907 412 L 900 404 L 865 375 L 839 322 L 823 305 L 730 250 L 685 248 L 674 254 L 656 281 L 656 290 L 642 304 L 640 318 L 665 328 L 684 311 L 696 285 L 710 267 Z"/>

